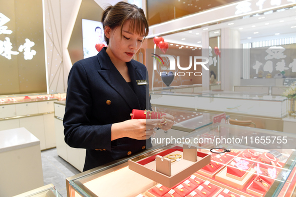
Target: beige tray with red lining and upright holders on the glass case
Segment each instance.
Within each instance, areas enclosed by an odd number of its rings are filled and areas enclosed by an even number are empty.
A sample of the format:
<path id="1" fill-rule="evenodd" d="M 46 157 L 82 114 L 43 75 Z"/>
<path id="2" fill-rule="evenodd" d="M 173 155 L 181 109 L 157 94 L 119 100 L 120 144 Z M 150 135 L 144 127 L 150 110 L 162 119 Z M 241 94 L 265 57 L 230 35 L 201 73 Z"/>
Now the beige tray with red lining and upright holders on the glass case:
<path id="1" fill-rule="evenodd" d="M 176 146 L 176 148 L 180 148 Z M 172 148 L 173 149 L 173 148 Z M 171 149 L 169 149 L 171 150 Z M 172 150 L 163 151 L 168 154 L 181 154 L 182 159 L 171 162 L 168 158 L 163 158 L 165 155 L 153 155 L 148 158 L 148 162 L 144 159 L 130 159 L 128 161 L 129 168 L 150 178 L 164 186 L 172 187 L 193 174 L 203 166 L 210 162 L 211 155 L 197 151 L 197 147 L 183 144 L 183 151 Z"/>

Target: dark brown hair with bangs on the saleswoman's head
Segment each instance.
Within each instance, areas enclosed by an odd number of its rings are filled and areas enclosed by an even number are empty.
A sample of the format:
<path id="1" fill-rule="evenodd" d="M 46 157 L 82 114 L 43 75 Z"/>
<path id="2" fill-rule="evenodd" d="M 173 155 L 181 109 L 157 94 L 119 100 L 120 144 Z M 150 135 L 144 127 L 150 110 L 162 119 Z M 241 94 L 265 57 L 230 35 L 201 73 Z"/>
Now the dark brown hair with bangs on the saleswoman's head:
<path id="1" fill-rule="evenodd" d="M 115 5 L 108 6 L 102 15 L 103 28 L 109 26 L 111 29 L 120 26 L 122 33 L 122 26 L 125 21 L 131 20 L 129 31 L 139 35 L 144 35 L 144 38 L 149 33 L 148 21 L 145 17 L 142 8 L 139 8 L 135 4 L 130 4 L 124 1 L 120 1 Z M 133 29 L 133 30 L 132 30 Z M 105 36 L 105 41 L 109 44 L 109 38 Z"/>

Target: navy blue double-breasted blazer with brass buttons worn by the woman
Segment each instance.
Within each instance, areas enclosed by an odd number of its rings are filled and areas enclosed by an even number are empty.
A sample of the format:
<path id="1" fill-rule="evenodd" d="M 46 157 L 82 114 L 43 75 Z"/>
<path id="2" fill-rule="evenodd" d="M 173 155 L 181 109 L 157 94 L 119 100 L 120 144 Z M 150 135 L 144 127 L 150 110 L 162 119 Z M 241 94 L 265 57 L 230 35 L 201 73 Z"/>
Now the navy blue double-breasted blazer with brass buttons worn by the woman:
<path id="1" fill-rule="evenodd" d="M 149 85 L 137 84 L 140 79 L 148 81 L 146 66 L 134 59 L 127 66 L 133 89 L 112 63 L 106 48 L 96 56 L 77 61 L 70 70 L 64 134 L 69 146 L 87 149 L 84 171 L 151 146 L 151 139 L 123 137 L 111 141 L 113 123 L 130 119 L 132 109 L 151 109 Z"/>

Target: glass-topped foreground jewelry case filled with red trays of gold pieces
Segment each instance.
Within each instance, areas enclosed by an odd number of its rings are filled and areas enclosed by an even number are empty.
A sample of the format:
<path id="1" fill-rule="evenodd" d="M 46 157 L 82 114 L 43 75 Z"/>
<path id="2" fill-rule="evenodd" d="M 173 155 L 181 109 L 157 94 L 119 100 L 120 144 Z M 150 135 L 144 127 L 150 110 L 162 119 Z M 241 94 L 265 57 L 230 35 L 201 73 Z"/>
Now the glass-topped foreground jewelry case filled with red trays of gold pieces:
<path id="1" fill-rule="evenodd" d="M 218 143 L 217 139 L 223 137 L 224 141 Z M 186 138 L 187 144 L 198 147 L 197 151 L 210 154 L 211 162 L 173 187 L 128 166 L 129 159 L 141 162 L 168 145 L 67 178 L 68 196 L 292 196 L 296 185 L 295 134 L 216 124 Z"/>

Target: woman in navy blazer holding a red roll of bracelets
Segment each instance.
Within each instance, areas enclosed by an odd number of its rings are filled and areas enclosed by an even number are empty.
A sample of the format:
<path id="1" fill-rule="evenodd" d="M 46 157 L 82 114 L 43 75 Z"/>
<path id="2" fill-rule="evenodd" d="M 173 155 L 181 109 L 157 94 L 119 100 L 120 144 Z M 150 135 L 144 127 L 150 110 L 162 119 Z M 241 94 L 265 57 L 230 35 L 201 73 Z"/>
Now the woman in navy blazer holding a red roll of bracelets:
<path id="1" fill-rule="evenodd" d="M 87 149 L 84 171 L 150 147 L 153 128 L 166 118 L 161 128 L 168 130 L 174 121 L 169 114 L 130 117 L 132 109 L 151 109 L 148 83 L 137 83 L 148 78 L 147 69 L 132 59 L 149 31 L 143 10 L 118 2 L 103 12 L 102 22 L 108 47 L 74 63 L 68 78 L 65 141 Z"/>

